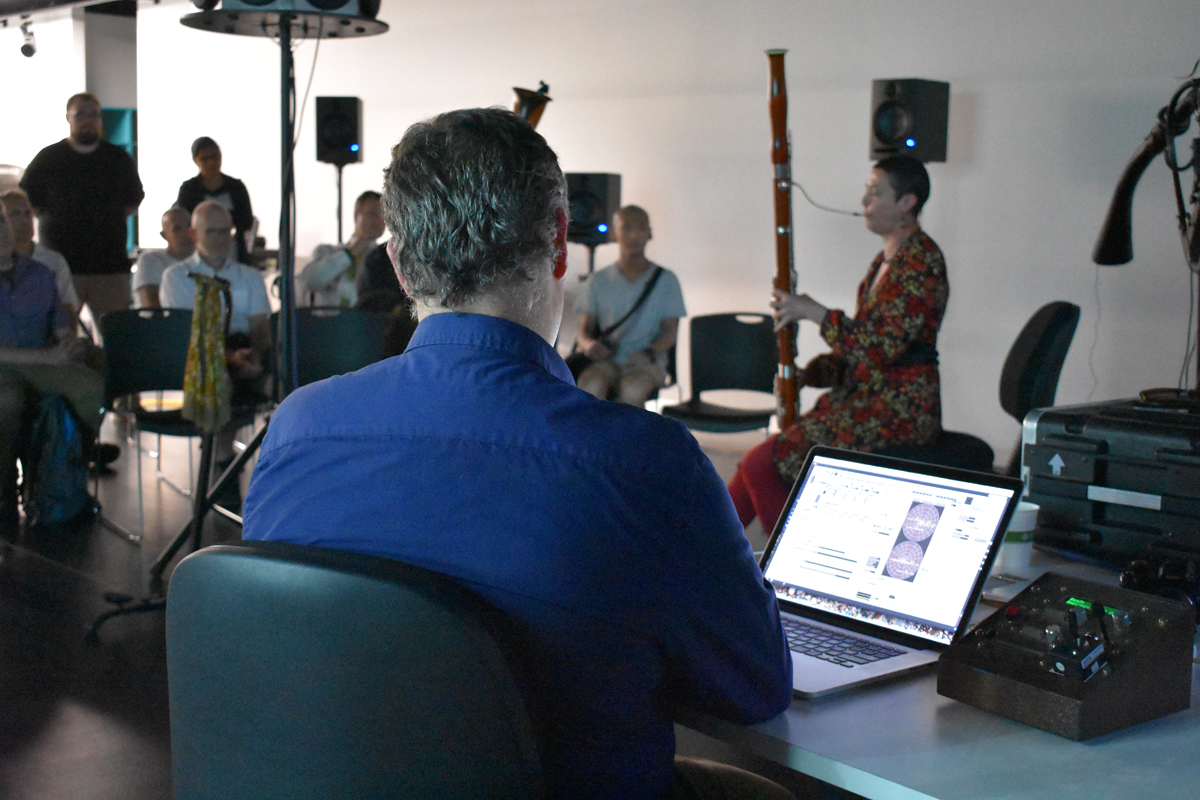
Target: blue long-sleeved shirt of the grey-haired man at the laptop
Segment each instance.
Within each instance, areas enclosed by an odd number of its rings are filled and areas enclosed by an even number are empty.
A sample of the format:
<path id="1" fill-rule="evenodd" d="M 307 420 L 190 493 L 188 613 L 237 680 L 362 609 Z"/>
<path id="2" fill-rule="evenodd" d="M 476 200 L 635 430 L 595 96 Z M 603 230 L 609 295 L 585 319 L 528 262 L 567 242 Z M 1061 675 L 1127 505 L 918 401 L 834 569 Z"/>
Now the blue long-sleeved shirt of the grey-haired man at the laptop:
<path id="1" fill-rule="evenodd" d="M 396 558 L 504 609 L 556 796 L 666 796 L 676 709 L 757 722 L 791 700 L 774 594 L 695 439 L 576 389 L 503 319 L 431 315 L 403 355 L 294 392 L 245 519 L 246 539 Z"/>

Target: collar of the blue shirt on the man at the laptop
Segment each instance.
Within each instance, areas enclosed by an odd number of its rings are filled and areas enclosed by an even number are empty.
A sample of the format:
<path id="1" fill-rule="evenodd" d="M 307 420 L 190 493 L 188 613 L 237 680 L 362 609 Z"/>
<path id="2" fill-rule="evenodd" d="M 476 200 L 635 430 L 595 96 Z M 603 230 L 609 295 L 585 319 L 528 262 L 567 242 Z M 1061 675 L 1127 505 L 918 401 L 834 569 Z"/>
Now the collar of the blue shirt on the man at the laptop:
<path id="1" fill-rule="evenodd" d="M 499 317 L 460 312 L 430 314 L 416 326 L 407 349 L 438 344 L 466 344 L 532 361 L 559 380 L 575 383 L 563 357 L 546 339 L 524 325 Z"/>

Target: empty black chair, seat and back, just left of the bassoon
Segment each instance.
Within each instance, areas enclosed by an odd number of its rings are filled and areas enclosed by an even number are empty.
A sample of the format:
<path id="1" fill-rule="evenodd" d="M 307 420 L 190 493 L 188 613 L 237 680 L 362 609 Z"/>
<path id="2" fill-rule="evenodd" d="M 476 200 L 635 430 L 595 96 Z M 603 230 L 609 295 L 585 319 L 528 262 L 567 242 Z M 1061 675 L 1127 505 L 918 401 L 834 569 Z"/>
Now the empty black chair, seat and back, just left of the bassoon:
<path id="1" fill-rule="evenodd" d="M 766 428 L 770 408 L 734 408 L 706 402 L 701 395 L 721 389 L 743 389 L 773 395 L 779 344 L 768 314 L 730 313 L 692 317 L 691 397 L 667 405 L 662 414 L 694 431 L 732 433 Z"/>

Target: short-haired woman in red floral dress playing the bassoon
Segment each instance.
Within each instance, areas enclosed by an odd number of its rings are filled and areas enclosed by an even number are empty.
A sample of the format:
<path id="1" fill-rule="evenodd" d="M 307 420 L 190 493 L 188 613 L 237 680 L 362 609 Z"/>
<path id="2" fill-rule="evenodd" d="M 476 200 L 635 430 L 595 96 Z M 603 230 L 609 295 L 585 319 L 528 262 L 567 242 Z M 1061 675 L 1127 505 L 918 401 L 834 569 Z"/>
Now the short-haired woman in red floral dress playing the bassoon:
<path id="1" fill-rule="evenodd" d="M 816 405 L 748 452 L 730 481 L 738 517 L 772 530 L 812 445 L 884 450 L 932 441 L 942 427 L 937 331 L 950 287 L 946 260 L 918 216 L 929 174 L 908 156 L 875 164 L 863 194 L 866 229 L 883 240 L 858 284 L 853 315 L 809 295 L 776 289 L 776 329 L 815 323 L 832 351 L 802 371 L 802 385 L 824 387 Z"/>

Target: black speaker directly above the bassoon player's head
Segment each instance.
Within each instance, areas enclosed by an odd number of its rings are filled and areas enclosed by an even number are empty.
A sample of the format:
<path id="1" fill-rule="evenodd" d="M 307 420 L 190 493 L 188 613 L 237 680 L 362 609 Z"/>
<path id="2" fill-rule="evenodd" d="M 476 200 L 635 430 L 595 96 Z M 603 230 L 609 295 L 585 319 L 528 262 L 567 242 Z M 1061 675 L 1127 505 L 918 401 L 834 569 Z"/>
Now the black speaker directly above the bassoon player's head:
<path id="1" fill-rule="evenodd" d="M 871 84 L 871 161 L 912 156 L 946 161 L 950 84 L 920 78 L 884 78 Z"/>

